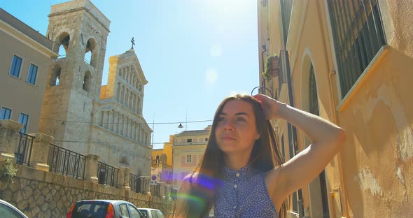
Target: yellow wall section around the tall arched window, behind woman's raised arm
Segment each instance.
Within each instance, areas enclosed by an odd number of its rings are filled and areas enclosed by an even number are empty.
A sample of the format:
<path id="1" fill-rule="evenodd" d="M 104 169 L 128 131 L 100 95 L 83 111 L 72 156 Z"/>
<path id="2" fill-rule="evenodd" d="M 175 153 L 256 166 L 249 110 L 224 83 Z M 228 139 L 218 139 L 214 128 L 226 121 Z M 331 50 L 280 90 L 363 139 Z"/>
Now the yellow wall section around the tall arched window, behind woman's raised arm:
<path id="1" fill-rule="evenodd" d="M 337 89 L 335 80 L 338 75 L 330 75 L 330 72 L 334 70 L 334 66 L 332 65 L 331 53 L 328 52 L 328 46 L 330 45 L 325 40 L 328 38 L 328 32 L 326 27 L 323 27 L 325 23 L 325 10 L 323 9 L 323 3 L 316 1 L 308 2 L 304 23 L 302 24 L 302 32 L 300 38 L 298 38 L 297 45 L 295 45 L 297 50 L 290 52 L 294 106 L 309 111 L 309 71 L 312 64 L 316 77 L 319 115 L 331 122 L 337 123 L 335 119 L 335 106 L 337 106 L 337 103 L 334 101 L 334 94 L 336 93 L 335 89 Z M 297 143 L 300 151 L 309 145 L 309 141 L 306 140 L 304 133 L 299 129 L 297 130 Z M 344 189 L 339 178 L 339 172 L 340 165 L 337 157 L 335 157 L 325 168 L 328 193 L 335 193 L 337 190 Z M 309 186 L 303 187 L 302 191 L 304 209 L 308 208 L 312 217 L 321 217 L 323 215 L 323 208 L 319 178 L 316 177 Z M 330 194 L 325 197 L 330 198 L 330 215 L 340 217 L 346 213 L 345 204 L 340 204 L 345 202 L 345 196 L 340 192 L 335 194 L 335 198 L 331 198 Z M 342 213 L 340 210 L 343 207 L 344 212 Z"/>

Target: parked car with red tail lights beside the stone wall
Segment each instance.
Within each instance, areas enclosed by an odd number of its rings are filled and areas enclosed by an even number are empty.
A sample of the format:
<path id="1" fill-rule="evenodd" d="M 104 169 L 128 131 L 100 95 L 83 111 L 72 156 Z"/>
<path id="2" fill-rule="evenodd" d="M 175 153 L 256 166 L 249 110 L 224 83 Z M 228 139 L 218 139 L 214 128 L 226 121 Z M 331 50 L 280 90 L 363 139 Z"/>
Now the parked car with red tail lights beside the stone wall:
<path id="1" fill-rule="evenodd" d="M 84 200 L 74 203 L 66 218 L 141 218 L 138 208 L 128 201 Z"/>

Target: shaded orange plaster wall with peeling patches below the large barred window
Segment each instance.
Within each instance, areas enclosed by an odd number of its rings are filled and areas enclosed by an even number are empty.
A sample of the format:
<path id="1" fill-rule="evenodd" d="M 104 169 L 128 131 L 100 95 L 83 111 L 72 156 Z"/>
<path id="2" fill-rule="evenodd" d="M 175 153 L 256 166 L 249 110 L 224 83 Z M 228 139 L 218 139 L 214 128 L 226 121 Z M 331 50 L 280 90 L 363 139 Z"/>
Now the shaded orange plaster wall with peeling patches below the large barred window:
<path id="1" fill-rule="evenodd" d="M 412 217 L 413 60 L 389 48 L 339 114 L 353 217 Z"/>

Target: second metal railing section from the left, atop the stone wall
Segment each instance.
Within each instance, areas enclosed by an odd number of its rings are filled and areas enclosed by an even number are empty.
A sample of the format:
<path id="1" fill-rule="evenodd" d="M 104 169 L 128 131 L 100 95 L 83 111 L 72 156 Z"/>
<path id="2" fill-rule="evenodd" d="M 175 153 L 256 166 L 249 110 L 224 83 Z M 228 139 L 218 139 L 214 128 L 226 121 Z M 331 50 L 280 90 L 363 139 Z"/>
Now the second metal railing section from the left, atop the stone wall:
<path id="1" fill-rule="evenodd" d="M 50 143 L 48 165 L 49 171 L 83 179 L 85 176 L 86 157 Z"/>

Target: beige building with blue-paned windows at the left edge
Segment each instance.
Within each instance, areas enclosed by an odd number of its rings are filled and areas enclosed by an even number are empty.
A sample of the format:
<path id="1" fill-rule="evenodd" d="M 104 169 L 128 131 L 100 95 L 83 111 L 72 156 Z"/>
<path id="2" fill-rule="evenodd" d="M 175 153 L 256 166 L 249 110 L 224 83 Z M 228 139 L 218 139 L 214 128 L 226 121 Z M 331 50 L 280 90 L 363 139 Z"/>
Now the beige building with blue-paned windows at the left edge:
<path id="1" fill-rule="evenodd" d="M 0 8 L 0 119 L 22 123 L 23 133 L 39 131 L 45 84 L 54 43 Z"/>

